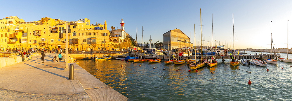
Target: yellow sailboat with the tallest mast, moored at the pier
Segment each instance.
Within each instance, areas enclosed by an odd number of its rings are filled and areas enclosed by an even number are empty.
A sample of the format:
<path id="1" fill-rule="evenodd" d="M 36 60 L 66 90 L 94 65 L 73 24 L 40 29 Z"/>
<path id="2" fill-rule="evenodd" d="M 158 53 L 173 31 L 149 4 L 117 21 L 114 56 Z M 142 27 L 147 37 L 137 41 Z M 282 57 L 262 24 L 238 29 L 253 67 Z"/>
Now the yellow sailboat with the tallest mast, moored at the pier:
<path id="1" fill-rule="evenodd" d="M 200 18 L 201 18 L 201 44 L 202 44 L 202 16 L 201 16 L 201 9 L 200 9 Z M 196 26 L 196 24 L 194 24 L 194 26 Z M 195 41 L 194 41 L 194 44 L 196 44 L 196 35 L 195 35 Z M 203 46 L 201 45 L 201 53 L 203 53 Z M 195 51 L 196 51 L 196 48 L 195 48 Z M 193 62 L 189 65 L 189 69 L 192 71 L 192 70 L 197 70 L 198 68 L 201 68 L 203 66 L 206 65 L 206 62 L 207 60 L 204 59 L 202 60 L 202 56 L 201 55 L 201 60 L 199 61 L 196 61 L 196 62 Z M 195 60 L 196 60 L 196 52 L 195 52 Z"/>

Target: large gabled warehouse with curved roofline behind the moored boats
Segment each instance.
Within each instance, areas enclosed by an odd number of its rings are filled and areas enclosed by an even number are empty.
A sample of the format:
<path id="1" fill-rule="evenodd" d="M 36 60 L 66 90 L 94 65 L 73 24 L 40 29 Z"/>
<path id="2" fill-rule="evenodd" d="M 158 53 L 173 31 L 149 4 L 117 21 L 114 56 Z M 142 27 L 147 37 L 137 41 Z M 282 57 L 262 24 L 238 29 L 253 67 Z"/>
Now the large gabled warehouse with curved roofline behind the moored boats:
<path id="1" fill-rule="evenodd" d="M 165 49 L 190 48 L 192 46 L 190 38 L 180 29 L 169 30 L 163 34 L 163 48 Z"/>

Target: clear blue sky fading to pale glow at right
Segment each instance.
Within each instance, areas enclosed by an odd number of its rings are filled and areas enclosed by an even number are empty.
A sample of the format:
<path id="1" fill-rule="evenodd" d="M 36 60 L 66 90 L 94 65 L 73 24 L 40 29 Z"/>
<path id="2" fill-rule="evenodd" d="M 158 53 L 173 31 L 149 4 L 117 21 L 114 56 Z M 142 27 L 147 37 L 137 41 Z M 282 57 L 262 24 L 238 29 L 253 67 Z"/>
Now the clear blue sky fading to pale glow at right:
<path id="1" fill-rule="evenodd" d="M 136 39 L 138 28 L 139 43 L 143 26 L 143 42 L 150 43 L 150 35 L 151 43 L 163 42 L 164 33 L 178 28 L 193 43 L 195 34 L 196 46 L 201 40 L 201 8 L 203 46 L 211 46 L 213 14 L 213 41 L 216 40 L 217 46 L 218 43 L 226 45 L 225 48 L 233 47 L 233 14 L 236 49 L 271 48 L 271 30 L 274 48 L 287 48 L 287 23 L 292 18 L 291 0 L 15 0 L 13 3 L 6 0 L 1 4 L 0 18 L 18 16 L 25 21 L 38 21 L 41 17 L 65 21 L 88 18 L 91 24 L 106 20 L 108 28 L 114 26 L 116 29 L 123 19 L 125 31 L 133 39 Z M 292 34 L 288 38 L 291 39 Z M 292 41 L 288 43 L 291 48 Z"/>

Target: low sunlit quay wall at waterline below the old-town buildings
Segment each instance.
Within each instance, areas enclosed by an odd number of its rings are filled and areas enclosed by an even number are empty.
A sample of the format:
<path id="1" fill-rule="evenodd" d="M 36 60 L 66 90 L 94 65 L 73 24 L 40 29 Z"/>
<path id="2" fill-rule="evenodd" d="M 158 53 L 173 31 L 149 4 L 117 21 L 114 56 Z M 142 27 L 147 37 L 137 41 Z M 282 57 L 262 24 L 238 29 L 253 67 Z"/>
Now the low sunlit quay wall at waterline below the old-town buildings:
<path id="1" fill-rule="evenodd" d="M 129 56 L 129 53 L 124 52 L 124 53 L 72 53 L 69 54 L 75 59 L 91 59 L 91 57 L 103 57 L 103 56 L 111 56 L 112 59 L 115 58 L 122 58 L 122 57 L 127 57 Z"/>

